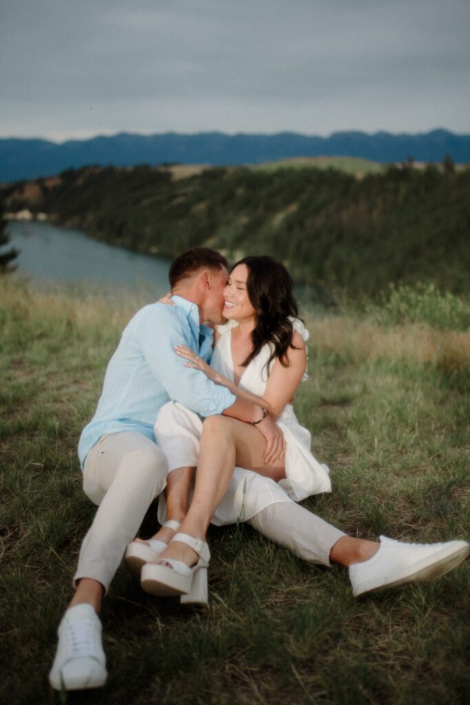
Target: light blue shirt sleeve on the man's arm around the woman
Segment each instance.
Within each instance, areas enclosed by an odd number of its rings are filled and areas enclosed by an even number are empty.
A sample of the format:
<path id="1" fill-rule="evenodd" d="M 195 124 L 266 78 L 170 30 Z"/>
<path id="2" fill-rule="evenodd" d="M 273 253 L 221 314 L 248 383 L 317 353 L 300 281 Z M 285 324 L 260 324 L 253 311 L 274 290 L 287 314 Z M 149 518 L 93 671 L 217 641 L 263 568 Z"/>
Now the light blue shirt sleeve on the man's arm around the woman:
<path id="1" fill-rule="evenodd" d="M 185 315 L 178 307 L 150 305 L 142 309 L 136 328 L 137 341 L 151 373 L 178 401 L 200 416 L 221 414 L 235 403 L 236 397 L 223 386 L 214 384 L 203 372 L 185 367 L 175 353 L 175 345 L 186 345 L 195 353 L 194 341 Z"/>

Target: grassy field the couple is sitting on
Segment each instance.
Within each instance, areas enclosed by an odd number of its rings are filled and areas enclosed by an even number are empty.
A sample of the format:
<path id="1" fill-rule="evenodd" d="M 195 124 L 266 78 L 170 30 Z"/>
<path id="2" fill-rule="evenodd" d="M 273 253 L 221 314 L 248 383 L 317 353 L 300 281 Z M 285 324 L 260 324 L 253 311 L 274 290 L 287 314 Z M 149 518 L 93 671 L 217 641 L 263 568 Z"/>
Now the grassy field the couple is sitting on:
<path id="1" fill-rule="evenodd" d="M 94 514 L 78 436 L 142 303 L 0 278 L 0 700 L 466 702 L 468 562 L 430 584 L 354 600 L 344 570 L 302 563 L 243 526 L 211 529 L 206 610 L 154 599 L 121 568 L 102 613 L 108 684 L 51 691 L 56 627 Z M 377 309 L 307 322 L 310 376 L 296 409 L 333 493 L 305 506 L 368 538 L 468 537 L 469 330 L 394 322 Z M 151 508 L 142 533 L 155 526 Z"/>

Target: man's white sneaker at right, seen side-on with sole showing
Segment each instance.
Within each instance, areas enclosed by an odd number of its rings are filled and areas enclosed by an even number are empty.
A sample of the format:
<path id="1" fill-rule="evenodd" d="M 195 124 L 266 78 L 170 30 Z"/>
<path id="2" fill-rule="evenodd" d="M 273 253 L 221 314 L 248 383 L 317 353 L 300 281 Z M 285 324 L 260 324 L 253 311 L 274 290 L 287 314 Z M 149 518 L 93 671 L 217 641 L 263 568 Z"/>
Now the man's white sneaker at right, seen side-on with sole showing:
<path id="1" fill-rule="evenodd" d="M 458 565 L 470 551 L 466 541 L 444 544 L 404 544 L 380 537 L 377 553 L 362 563 L 350 565 L 354 597 L 364 592 L 395 587 L 414 580 L 431 580 Z"/>

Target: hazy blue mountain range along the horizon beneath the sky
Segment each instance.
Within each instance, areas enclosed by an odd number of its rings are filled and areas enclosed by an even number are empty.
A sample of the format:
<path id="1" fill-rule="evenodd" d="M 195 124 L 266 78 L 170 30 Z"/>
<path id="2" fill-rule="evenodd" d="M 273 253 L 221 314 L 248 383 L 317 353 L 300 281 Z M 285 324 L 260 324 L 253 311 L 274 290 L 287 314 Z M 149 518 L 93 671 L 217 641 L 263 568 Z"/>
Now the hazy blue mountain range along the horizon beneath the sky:
<path id="1" fill-rule="evenodd" d="M 289 157 L 363 157 L 383 163 L 414 161 L 470 162 L 470 135 L 433 130 L 418 135 L 378 132 L 333 133 L 330 137 L 278 133 L 276 135 L 135 135 L 119 133 L 57 144 L 41 139 L 0 139 L 0 181 L 52 176 L 87 164 L 207 164 L 231 166 L 261 164 Z"/>

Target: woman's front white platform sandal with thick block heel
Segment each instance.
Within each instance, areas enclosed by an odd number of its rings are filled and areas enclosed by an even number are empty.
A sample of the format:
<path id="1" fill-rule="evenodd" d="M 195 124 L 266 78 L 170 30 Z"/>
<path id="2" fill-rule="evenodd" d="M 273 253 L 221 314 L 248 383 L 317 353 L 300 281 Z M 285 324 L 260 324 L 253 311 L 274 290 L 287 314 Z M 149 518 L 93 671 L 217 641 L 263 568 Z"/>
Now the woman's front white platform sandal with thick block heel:
<path id="1" fill-rule="evenodd" d="M 188 534 L 175 534 L 170 543 L 173 541 L 190 546 L 199 560 L 191 568 L 182 560 L 174 558 L 165 558 L 171 568 L 160 563 L 146 563 L 140 576 L 142 589 L 152 595 L 180 595 L 182 603 L 207 604 L 207 568 L 211 560 L 209 546 L 206 541 Z"/>

